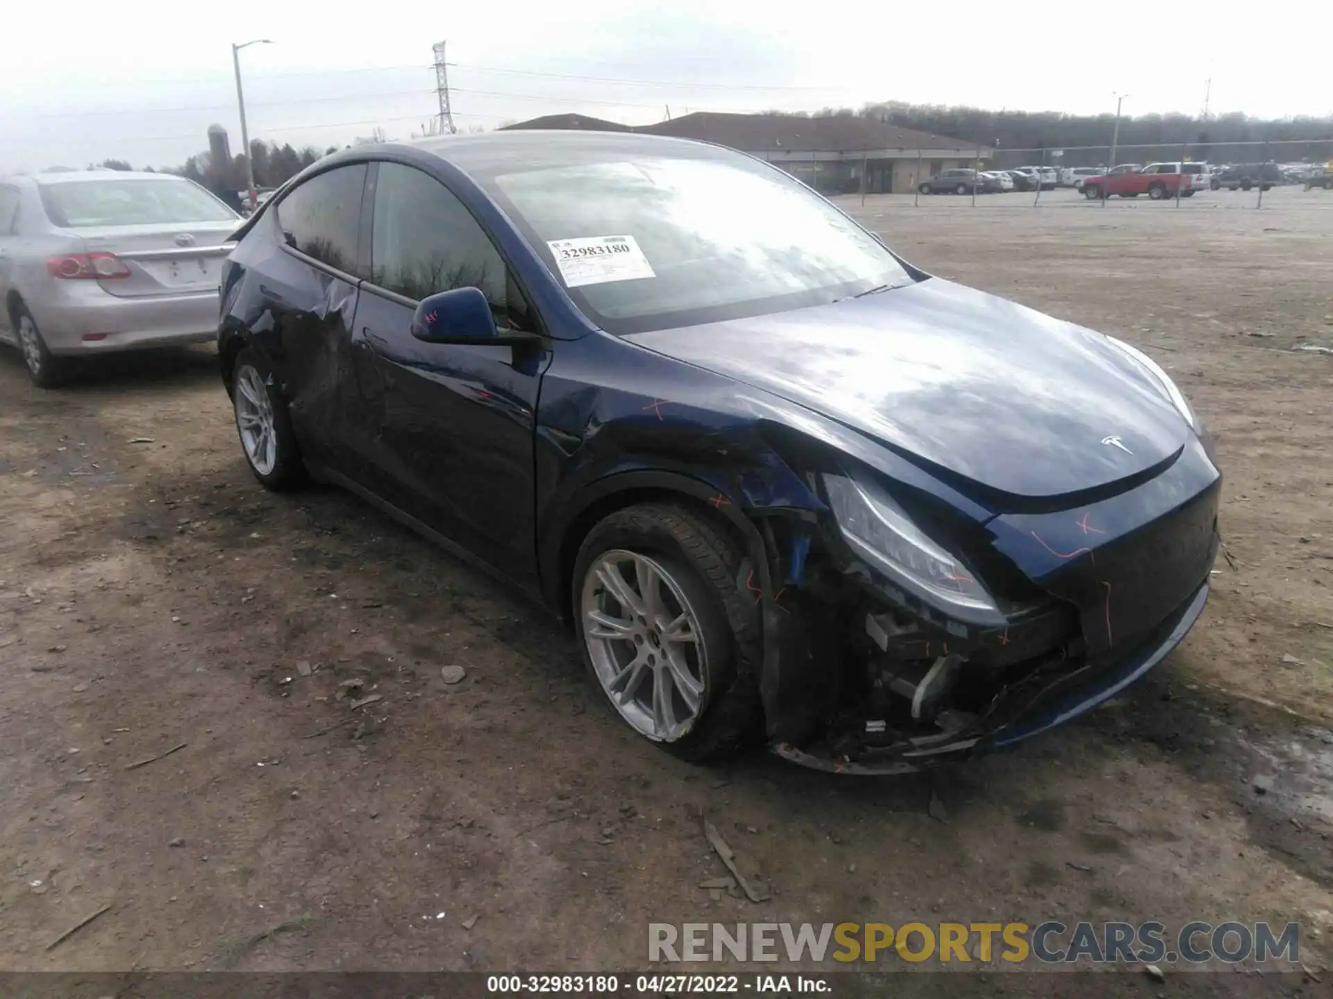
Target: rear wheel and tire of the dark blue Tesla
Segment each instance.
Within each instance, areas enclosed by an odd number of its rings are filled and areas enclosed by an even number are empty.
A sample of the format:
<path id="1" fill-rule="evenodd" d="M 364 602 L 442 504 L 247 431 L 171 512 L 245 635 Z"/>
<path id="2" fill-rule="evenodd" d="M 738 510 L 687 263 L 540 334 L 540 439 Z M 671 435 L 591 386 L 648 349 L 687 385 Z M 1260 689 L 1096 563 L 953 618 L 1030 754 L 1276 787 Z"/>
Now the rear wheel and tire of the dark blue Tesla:
<path id="1" fill-rule="evenodd" d="M 272 368 L 249 348 L 232 369 L 232 409 L 245 464 L 260 484 L 275 492 L 307 481 L 292 417 L 273 378 Z"/>

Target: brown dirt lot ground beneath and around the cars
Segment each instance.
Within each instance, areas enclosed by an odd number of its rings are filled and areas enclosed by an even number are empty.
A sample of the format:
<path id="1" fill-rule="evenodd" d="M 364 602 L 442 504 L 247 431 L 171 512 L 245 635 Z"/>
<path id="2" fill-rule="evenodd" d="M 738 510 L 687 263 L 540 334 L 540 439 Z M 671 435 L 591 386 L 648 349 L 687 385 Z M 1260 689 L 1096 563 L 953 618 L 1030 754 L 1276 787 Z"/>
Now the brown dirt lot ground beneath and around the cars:
<path id="1" fill-rule="evenodd" d="M 1333 196 L 1252 201 L 848 202 L 937 274 L 1145 348 L 1228 477 L 1234 563 L 1168 665 L 932 777 L 676 762 L 536 609 L 343 493 L 265 494 L 209 350 L 49 393 L 5 352 L 0 968 L 607 970 L 645 964 L 649 922 L 1234 918 L 1298 920 L 1320 974 L 1333 357 L 1293 348 L 1333 345 Z M 337 699 L 356 678 L 383 699 Z M 722 872 L 702 813 L 769 902 L 696 887 Z"/>

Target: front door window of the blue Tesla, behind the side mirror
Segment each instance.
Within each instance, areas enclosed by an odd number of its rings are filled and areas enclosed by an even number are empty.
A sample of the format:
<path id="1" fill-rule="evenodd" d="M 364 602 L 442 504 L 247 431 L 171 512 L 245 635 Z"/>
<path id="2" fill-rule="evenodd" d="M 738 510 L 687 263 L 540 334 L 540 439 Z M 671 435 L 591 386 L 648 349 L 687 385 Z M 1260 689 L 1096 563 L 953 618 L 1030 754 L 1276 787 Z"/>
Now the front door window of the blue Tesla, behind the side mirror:
<path id="1" fill-rule="evenodd" d="M 496 320 L 509 309 L 504 258 L 467 206 L 435 177 L 381 163 L 375 181 L 371 281 L 420 301 L 480 288 Z"/>

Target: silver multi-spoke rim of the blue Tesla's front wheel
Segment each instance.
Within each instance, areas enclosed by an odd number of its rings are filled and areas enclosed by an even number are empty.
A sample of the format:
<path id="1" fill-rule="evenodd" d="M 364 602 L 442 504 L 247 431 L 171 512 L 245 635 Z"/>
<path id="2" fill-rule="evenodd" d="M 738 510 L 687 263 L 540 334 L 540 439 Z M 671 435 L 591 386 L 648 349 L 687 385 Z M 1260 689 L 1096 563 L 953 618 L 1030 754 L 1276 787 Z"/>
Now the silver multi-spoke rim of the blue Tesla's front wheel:
<path id="1" fill-rule="evenodd" d="M 655 742 L 674 742 L 708 706 L 708 649 L 698 613 L 661 562 L 603 553 L 584 577 L 584 641 L 620 715 Z"/>

